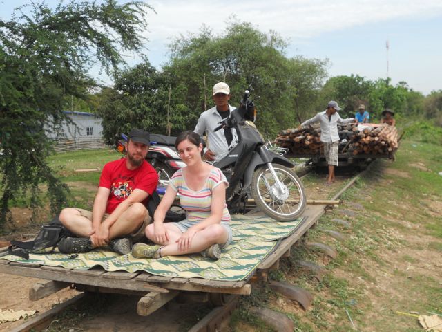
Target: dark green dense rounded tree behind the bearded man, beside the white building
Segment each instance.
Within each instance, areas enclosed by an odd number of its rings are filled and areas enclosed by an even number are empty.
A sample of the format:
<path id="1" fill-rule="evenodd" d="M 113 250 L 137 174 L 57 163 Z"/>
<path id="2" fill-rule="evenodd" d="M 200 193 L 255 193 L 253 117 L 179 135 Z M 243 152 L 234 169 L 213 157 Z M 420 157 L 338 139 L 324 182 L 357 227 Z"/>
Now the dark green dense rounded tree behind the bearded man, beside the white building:
<path id="1" fill-rule="evenodd" d="M 186 129 L 191 118 L 189 109 L 184 104 L 176 104 L 175 87 L 166 75 L 159 73 L 147 60 L 143 64 L 123 71 L 115 81 L 113 89 L 107 89 L 102 96 L 98 113 L 103 119 L 103 135 L 106 142 L 115 145 L 121 133 L 128 133 L 133 127 L 154 133 L 176 134 Z M 171 116 L 168 118 L 167 108 Z M 190 117 L 190 118 L 189 118 Z"/>

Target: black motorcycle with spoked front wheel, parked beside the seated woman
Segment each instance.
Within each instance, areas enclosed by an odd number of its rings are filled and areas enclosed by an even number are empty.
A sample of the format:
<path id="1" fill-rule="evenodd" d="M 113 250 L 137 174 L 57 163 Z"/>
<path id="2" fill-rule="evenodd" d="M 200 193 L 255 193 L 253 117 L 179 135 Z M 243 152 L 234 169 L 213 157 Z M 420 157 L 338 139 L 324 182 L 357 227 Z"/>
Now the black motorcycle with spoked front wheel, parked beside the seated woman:
<path id="1" fill-rule="evenodd" d="M 253 124 L 256 108 L 249 99 L 251 86 L 240 107 L 222 120 L 220 129 L 236 129 L 238 142 L 213 162 L 229 181 L 226 190 L 230 212 L 245 210 L 249 197 L 262 212 L 278 221 L 296 219 L 305 210 L 307 198 L 302 182 L 292 170 L 294 164 L 268 149 Z"/>

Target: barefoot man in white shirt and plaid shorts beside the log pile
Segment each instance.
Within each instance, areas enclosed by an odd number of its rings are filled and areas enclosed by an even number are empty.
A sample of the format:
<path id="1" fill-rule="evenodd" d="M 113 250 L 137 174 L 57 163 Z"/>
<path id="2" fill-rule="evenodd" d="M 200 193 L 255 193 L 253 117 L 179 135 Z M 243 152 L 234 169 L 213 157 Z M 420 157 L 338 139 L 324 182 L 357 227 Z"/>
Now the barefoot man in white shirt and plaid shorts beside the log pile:
<path id="1" fill-rule="evenodd" d="M 300 127 L 304 127 L 311 123 L 320 122 L 320 141 L 324 143 L 325 160 L 329 165 L 329 176 L 325 185 L 332 185 L 335 181 L 334 167 L 338 166 L 338 124 L 347 124 L 355 121 L 354 118 L 340 118 L 337 111 L 340 111 L 338 103 L 331 100 L 325 111 L 300 124 Z"/>

